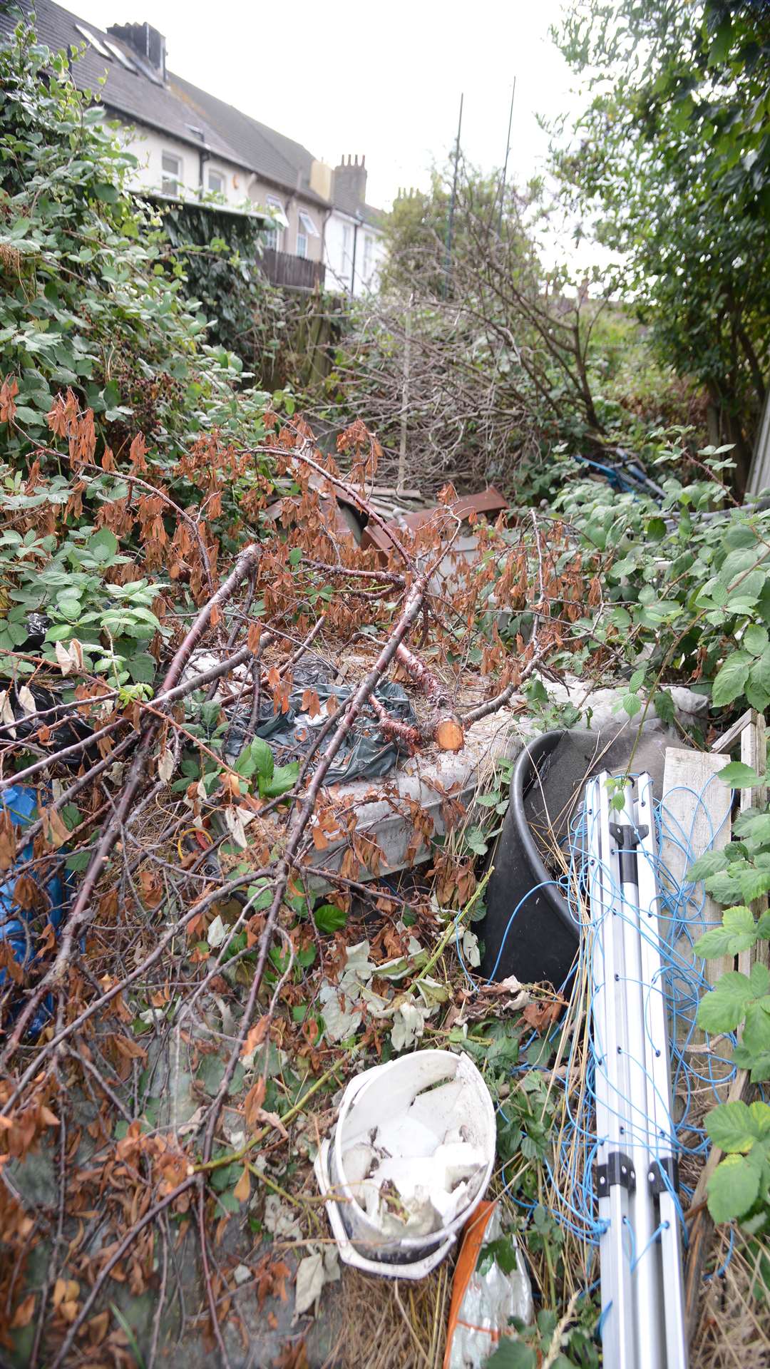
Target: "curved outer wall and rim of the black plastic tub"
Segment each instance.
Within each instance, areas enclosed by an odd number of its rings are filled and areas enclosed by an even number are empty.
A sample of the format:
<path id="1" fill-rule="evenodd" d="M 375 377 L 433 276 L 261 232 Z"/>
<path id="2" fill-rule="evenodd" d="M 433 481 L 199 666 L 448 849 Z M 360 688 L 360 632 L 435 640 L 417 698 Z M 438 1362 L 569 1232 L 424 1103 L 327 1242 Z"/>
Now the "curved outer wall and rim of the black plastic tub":
<path id="1" fill-rule="evenodd" d="M 488 979 L 515 975 L 522 983 L 548 980 L 559 988 L 575 957 L 578 927 L 543 861 L 534 836 L 538 823 L 541 827 L 551 823 L 545 776 L 552 771 L 554 753 L 567 735 L 559 731 L 536 737 L 514 767 L 508 812 L 497 838 L 495 868 L 486 886 L 486 917 L 481 928 L 481 969 Z M 571 787 L 569 780 L 562 784 L 558 779 L 552 776 L 548 787 L 554 789 L 556 780 L 558 809 L 563 815 Z M 559 826 L 563 824 L 562 816 Z"/>

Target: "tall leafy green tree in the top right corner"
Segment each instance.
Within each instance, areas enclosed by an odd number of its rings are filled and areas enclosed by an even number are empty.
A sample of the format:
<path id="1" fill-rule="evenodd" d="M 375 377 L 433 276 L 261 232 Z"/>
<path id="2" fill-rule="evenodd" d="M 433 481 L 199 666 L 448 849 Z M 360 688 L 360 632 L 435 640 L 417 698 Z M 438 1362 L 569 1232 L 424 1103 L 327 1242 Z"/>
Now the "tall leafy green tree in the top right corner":
<path id="1" fill-rule="evenodd" d="M 770 366 L 770 10 L 575 0 L 555 37 L 592 96 L 554 146 L 564 200 L 618 252 L 663 359 L 706 386 L 743 489 Z"/>

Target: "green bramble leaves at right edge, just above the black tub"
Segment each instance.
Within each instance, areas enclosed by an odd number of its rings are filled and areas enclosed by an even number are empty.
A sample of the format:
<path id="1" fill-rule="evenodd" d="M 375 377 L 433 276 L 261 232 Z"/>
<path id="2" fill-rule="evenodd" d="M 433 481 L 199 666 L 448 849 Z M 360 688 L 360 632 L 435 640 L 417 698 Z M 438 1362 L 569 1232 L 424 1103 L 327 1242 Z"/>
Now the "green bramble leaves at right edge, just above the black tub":
<path id="1" fill-rule="evenodd" d="M 658 481 L 665 498 L 618 493 L 595 481 L 566 479 L 554 508 L 570 523 L 585 579 L 601 582 L 604 612 L 596 622 L 589 605 L 574 620 L 575 637 L 589 635 L 623 660 L 630 672 L 622 706 L 641 717 L 652 706 L 671 716 L 671 700 L 659 689 L 670 682 L 711 686 L 714 706 L 770 705 L 770 587 L 767 565 L 770 519 L 751 507 L 726 505 L 718 475 L 722 453 L 699 453 L 703 475 L 688 479 L 682 438 L 651 434 Z M 564 459 L 564 476 L 574 463 Z M 670 474 L 669 474 L 670 472 Z M 515 534 L 514 534 L 515 535 Z M 566 563 L 566 556 L 564 556 Z M 534 571 L 534 567 L 533 567 Z M 512 619 L 508 631 L 522 630 Z M 573 668 L 574 652 L 556 665 Z M 736 784 L 741 769 L 728 769 Z M 745 902 L 738 894 L 726 902 Z M 751 895 L 755 897 L 755 895 Z"/>

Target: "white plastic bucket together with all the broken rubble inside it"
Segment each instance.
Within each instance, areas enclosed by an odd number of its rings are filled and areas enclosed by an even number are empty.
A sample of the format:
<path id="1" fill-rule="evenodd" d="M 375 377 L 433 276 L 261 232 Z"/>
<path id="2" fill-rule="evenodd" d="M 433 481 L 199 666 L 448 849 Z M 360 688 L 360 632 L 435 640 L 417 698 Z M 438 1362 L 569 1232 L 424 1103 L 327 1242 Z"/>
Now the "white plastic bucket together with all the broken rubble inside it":
<path id="1" fill-rule="evenodd" d="M 348 1084 L 315 1173 L 345 1264 L 422 1279 L 475 1210 L 495 1162 L 495 1109 L 466 1055 L 423 1050 Z"/>

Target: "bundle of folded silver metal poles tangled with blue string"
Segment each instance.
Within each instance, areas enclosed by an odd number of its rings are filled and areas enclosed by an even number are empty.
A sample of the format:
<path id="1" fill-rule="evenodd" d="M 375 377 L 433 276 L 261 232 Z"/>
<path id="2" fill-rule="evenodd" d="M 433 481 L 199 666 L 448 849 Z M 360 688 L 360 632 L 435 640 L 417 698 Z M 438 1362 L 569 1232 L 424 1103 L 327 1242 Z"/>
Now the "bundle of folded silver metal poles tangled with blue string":
<path id="1" fill-rule="evenodd" d="M 585 790 L 604 1362 L 686 1369 L 652 783 L 619 815 L 607 783 Z"/>

